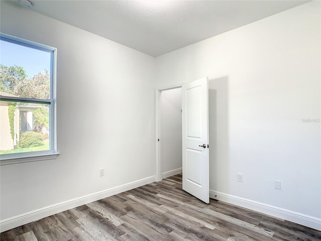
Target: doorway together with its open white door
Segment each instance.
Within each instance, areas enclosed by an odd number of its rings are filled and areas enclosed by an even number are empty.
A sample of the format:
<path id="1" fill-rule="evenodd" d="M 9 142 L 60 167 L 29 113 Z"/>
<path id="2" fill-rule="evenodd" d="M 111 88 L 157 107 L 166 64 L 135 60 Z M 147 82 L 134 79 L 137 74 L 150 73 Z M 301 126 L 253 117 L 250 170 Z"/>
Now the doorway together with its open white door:
<path id="1" fill-rule="evenodd" d="M 206 203 L 209 203 L 208 82 L 205 77 L 156 90 L 155 180 L 182 172 L 183 190 Z"/>

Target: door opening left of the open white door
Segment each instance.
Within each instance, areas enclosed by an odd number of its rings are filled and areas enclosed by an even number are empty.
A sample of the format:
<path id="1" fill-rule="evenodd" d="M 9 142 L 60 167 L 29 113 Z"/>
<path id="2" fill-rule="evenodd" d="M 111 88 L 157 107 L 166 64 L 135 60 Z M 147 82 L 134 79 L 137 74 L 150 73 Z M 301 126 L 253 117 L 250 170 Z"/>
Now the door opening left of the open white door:
<path id="1" fill-rule="evenodd" d="M 156 181 L 161 181 L 182 173 L 182 86 L 156 90 L 156 105 Z"/>

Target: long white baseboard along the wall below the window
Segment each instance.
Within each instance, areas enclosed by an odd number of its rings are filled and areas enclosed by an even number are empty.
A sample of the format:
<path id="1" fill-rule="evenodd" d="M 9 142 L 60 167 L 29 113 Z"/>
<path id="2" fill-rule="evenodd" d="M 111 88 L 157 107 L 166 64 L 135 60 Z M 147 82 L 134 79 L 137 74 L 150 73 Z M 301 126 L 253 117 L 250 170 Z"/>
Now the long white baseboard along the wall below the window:
<path id="1" fill-rule="evenodd" d="M 24 225 L 32 221 L 39 220 L 44 217 L 48 217 L 50 215 L 53 215 L 62 211 L 66 211 L 71 208 L 75 208 L 75 207 L 87 204 L 89 202 L 94 202 L 102 198 L 106 198 L 121 192 L 125 192 L 133 188 L 149 184 L 154 181 L 155 181 L 155 176 L 143 178 L 143 179 L 130 182 L 124 185 L 120 185 L 114 188 L 109 188 L 100 192 L 92 193 L 86 196 L 78 197 L 65 202 L 40 208 L 38 210 L 27 212 L 18 216 L 7 218 L 0 221 L 0 232 Z"/>

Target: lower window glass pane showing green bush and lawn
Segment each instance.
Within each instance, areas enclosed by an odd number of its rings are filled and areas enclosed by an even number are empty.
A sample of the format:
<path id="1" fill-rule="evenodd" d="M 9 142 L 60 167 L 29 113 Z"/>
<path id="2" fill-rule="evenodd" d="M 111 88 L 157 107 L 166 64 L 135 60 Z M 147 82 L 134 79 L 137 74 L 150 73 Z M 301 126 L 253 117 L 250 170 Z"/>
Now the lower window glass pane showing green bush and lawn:
<path id="1" fill-rule="evenodd" d="M 49 104 L 0 101 L 0 154 L 50 150 Z"/>

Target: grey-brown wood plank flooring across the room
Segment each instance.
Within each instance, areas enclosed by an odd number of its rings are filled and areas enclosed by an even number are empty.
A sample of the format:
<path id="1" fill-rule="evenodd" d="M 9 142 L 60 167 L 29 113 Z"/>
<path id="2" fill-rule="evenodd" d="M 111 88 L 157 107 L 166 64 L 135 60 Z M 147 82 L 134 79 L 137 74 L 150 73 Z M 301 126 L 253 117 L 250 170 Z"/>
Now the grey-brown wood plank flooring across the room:
<path id="1" fill-rule="evenodd" d="M 321 232 L 249 209 L 199 201 L 175 175 L 1 233 L 1 240 L 321 240 Z"/>

